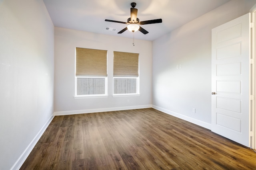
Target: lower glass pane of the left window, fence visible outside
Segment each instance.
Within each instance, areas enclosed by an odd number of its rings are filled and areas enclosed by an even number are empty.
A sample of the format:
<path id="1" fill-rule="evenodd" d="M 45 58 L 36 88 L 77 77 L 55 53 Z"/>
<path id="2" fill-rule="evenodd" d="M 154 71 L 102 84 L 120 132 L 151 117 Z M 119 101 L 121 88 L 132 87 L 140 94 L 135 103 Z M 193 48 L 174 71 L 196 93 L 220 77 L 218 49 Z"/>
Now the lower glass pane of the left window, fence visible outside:
<path id="1" fill-rule="evenodd" d="M 76 95 L 105 94 L 105 78 L 77 78 Z"/>

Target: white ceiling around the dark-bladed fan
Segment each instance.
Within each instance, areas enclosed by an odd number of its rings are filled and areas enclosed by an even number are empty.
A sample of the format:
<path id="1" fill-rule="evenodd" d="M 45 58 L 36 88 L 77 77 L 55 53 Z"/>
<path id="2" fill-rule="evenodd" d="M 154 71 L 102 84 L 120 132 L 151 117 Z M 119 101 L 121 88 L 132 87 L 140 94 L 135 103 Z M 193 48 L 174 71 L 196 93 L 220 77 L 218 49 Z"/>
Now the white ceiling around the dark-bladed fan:
<path id="1" fill-rule="evenodd" d="M 136 2 L 140 21 L 162 18 L 162 23 L 142 25 L 149 33 L 134 33 L 135 39 L 152 41 L 217 8 L 229 0 L 44 0 L 54 26 L 132 38 L 132 32 L 118 32 L 130 18 L 130 4 Z M 105 27 L 117 31 L 105 30 Z"/>

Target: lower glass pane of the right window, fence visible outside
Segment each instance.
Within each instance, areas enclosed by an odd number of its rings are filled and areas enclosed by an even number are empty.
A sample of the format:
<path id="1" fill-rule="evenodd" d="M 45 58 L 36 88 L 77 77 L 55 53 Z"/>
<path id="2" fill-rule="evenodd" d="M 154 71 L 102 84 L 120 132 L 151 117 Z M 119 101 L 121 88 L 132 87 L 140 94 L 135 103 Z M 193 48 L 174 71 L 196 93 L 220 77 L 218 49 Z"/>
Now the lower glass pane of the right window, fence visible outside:
<path id="1" fill-rule="evenodd" d="M 114 78 L 114 94 L 136 94 L 137 78 Z"/>

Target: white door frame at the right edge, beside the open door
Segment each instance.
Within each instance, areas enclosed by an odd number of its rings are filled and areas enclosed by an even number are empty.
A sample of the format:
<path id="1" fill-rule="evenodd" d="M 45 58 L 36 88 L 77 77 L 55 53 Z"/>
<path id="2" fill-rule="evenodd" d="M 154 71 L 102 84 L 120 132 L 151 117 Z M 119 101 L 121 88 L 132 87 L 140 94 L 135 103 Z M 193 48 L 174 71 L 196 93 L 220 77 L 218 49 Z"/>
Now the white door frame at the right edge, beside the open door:
<path id="1" fill-rule="evenodd" d="M 256 86 L 256 67 L 255 67 L 255 57 L 256 57 L 256 4 L 250 9 L 251 13 L 251 75 L 250 75 L 250 85 L 251 85 L 251 104 L 250 104 L 250 111 L 251 111 L 251 148 L 256 149 L 256 113 L 255 113 L 255 86 Z"/>

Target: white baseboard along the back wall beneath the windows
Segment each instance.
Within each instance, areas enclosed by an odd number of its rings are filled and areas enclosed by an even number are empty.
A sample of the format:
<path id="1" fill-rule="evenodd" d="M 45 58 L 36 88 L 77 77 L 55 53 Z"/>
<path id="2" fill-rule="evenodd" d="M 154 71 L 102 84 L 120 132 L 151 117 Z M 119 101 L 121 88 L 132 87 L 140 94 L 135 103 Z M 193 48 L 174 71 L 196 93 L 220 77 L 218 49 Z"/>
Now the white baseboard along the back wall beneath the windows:
<path id="1" fill-rule="evenodd" d="M 152 105 L 141 105 L 141 106 L 111 107 L 111 108 L 101 108 L 101 109 L 85 109 L 85 110 L 72 110 L 72 111 L 56 111 L 56 112 L 54 112 L 54 115 L 55 115 L 55 116 L 60 116 L 60 115 L 75 115 L 75 114 L 82 114 L 82 113 L 96 113 L 96 112 L 105 112 L 105 111 L 144 109 L 144 108 L 151 108 L 151 107 L 152 107 Z"/>

